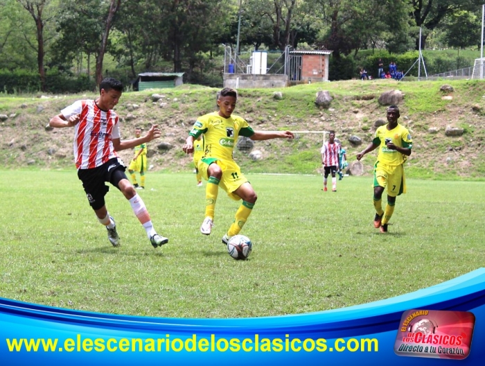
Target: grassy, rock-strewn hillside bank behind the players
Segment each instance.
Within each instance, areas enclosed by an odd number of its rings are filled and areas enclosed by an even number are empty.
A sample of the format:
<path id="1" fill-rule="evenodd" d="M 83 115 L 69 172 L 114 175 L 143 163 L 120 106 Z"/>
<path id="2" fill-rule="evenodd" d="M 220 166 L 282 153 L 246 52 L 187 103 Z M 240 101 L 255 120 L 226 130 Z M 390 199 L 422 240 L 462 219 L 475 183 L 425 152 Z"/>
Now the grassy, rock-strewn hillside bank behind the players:
<path id="1" fill-rule="evenodd" d="M 244 116 L 255 130 L 335 130 L 347 149 L 349 161 L 371 141 L 374 122 L 385 119 L 385 107 L 379 105 L 382 92 L 399 89 L 405 94 L 400 104 L 400 123 L 407 126 L 414 140 L 413 153 L 407 163 L 409 177 L 433 179 L 482 179 L 485 177 L 485 82 L 456 80 L 446 83 L 455 92 L 443 99 L 440 91 L 445 81 L 396 82 L 394 80 L 348 80 L 313 83 L 285 89 L 240 89 L 236 114 Z M 315 96 L 328 90 L 333 96 L 328 110 L 315 106 Z M 123 137 L 134 136 L 134 126 L 148 128 L 161 125 L 161 139 L 149 143 L 150 157 L 156 171 L 190 171 L 191 157 L 182 152 L 188 130 L 197 116 L 215 110 L 218 89 L 183 85 L 175 89 L 127 92 L 116 106 L 121 116 Z M 273 93 L 283 93 L 275 100 Z M 157 103 L 150 96 L 164 96 Z M 73 96 L 6 96 L 0 94 L 0 161 L 4 168 L 73 168 L 73 130 L 46 130 L 51 116 L 80 98 L 95 98 L 96 94 Z M 164 103 L 161 107 L 160 104 Z M 132 109 L 132 105 L 138 105 Z M 461 137 L 446 137 L 446 126 L 464 128 Z M 438 128 L 437 133 L 428 132 Z M 351 136 L 362 139 L 362 146 L 353 147 Z M 168 151 L 157 149 L 159 142 L 170 143 Z M 321 168 L 319 148 L 321 135 L 298 134 L 294 141 L 258 141 L 255 148 L 263 160 L 253 162 L 247 153 L 236 152 L 236 159 L 249 172 L 317 174 Z M 131 151 L 121 153 L 125 162 Z M 367 173 L 375 154 L 364 158 Z"/>

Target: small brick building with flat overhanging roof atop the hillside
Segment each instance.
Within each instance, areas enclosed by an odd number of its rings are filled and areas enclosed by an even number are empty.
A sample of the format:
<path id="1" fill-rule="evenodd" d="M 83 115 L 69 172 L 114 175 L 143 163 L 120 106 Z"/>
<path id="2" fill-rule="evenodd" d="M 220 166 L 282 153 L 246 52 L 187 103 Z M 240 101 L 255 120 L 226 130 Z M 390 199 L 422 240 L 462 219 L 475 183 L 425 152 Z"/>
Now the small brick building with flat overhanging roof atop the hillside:
<path id="1" fill-rule="evenodd" d="M 290 85 L 328 81 L 328 62 L 333 51 L 290 51 Z"/>

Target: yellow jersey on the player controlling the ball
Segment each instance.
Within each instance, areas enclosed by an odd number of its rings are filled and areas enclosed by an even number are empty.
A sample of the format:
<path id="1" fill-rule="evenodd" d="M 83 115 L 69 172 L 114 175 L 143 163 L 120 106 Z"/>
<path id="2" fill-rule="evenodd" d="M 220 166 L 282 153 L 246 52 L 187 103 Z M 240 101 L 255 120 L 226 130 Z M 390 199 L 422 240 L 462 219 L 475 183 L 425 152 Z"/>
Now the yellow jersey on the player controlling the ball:
<path id="1" fill-rule="evenodd" d="M 189 134 L 194 139 L 204 134 L 203 157 L 232 160 L 232 152 L 239 135 L 252 137 L 254 130 L 240 116 L 233 114 L 226 119 L 218 112 L 212 112 L 199 117 Z"/>

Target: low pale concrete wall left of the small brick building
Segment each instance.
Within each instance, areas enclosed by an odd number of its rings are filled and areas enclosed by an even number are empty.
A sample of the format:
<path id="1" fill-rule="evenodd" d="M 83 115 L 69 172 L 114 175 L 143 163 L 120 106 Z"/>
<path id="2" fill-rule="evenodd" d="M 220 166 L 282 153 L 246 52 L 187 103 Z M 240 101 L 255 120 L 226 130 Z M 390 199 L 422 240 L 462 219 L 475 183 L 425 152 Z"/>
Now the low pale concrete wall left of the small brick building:
<path id="1" fill-rule="evenodd" d="M 224 87 L 233 89 L 277 88 L 288 85 L 288 75 L 224 73 Z"/>

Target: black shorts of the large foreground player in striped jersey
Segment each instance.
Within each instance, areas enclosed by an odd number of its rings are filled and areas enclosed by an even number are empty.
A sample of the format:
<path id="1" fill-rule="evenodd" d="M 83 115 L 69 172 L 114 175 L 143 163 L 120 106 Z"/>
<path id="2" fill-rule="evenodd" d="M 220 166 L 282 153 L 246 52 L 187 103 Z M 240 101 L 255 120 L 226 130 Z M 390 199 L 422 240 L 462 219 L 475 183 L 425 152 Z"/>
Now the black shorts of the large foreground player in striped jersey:
<path id="1" fill-rule="evenodd" d="M 126 166 L 119 158 L 109 159 L 105 164 L 91 169 L 79 169 L 78 178 L 85 189 L 87 200 L 94 210 L 105 205 L 105 195 L 109 191 L 109 182 L 116 186 L 120 180 L 127 179 L 125 174 Z"/>

